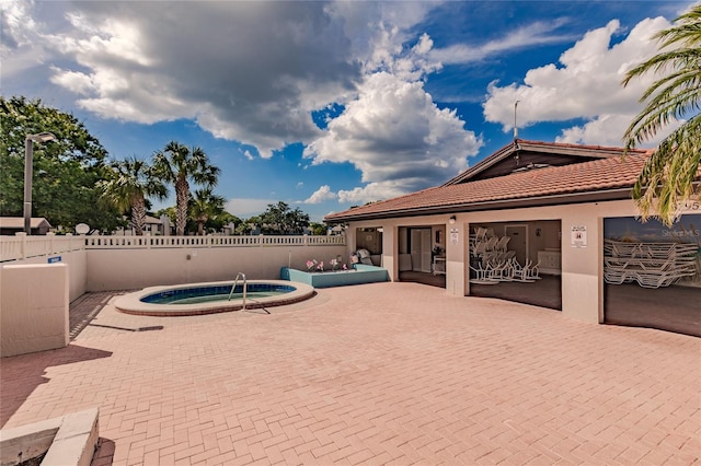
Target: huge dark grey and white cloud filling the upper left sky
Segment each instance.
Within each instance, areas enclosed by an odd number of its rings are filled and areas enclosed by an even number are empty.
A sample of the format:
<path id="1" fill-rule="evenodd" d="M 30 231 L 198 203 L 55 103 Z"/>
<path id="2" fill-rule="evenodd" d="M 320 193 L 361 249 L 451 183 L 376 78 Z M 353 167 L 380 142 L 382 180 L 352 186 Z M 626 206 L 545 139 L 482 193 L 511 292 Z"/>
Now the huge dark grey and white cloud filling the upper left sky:
<path id="1" fill-rule="evenodd" d="M 53 67 L 42 73 L 102 118 L 193 119 L 264 158 L 319 137 L 310 112 L 352 95 L 360 78 L 333 3 L 42 4 L 53 27 L 26 31 L 38 8 L 11 2 L 5 14 L 3 3 L 3 78 L 37 68 L 22 57 L 46 49 Z"/>

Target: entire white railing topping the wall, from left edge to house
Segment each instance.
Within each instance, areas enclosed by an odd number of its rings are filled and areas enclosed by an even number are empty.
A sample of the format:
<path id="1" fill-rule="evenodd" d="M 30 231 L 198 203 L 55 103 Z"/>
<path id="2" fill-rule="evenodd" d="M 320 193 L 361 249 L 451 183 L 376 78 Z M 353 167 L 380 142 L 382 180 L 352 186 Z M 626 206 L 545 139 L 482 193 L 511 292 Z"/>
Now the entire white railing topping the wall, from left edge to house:
<path id="1" fill-rule="evenodd" d="M 0 236 L 0 261 L 80 249 L 343 246 L 345 236 Z"/>

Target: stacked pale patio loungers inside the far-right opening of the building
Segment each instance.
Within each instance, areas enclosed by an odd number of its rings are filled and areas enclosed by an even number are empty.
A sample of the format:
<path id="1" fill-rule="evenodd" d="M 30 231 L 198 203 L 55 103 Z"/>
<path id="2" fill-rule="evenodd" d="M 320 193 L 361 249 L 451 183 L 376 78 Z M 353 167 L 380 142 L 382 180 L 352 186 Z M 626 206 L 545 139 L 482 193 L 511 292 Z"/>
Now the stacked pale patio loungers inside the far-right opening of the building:
<path id="1" fill-rule="evenodd" d="M 697 273 L 698 246 L 688 243 L 604 243 L 604 280 L 637 282 L 643 288 L 669 287 Z"/>

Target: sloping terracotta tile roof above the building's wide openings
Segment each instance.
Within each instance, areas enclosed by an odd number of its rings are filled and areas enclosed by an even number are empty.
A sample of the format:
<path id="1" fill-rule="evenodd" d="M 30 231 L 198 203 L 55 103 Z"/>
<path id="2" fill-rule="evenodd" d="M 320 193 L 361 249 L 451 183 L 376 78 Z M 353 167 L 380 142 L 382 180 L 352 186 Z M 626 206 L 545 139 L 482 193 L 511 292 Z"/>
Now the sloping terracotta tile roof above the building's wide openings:
<path id="1" fill-rule="evenodd" d="M 480 179 L 449 186 L 424 189 L 406 196 L 374 202 L 344 212 L 331 213 L 326 221 L 361 220 L 364 218 L 405 217 L 430 213 L 432 210 L 455 208 L 456 211 L 475 205 L 506 200 L 526 200 L 549 196 L 610 190 L 630 190 L 643 167 L 647 154 L 629 154 L 551 166 L 506 176 Z M 627 191 L 620 198 L 628 197 Z M 558 203 L 554 199 L 549 203 Z M 472 209 L 473 210 L 473 209 Z"/>

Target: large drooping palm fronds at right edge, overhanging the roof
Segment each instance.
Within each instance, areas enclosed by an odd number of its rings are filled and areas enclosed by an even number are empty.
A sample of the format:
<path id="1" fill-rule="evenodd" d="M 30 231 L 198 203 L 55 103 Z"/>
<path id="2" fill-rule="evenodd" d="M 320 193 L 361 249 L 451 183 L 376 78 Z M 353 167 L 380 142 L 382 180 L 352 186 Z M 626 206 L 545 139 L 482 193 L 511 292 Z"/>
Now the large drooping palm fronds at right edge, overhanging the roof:
<path id="1" fill-rule="evenodd" d="M 674 121 L 688 119 L 654 150 L 633 187 L 633 199 L 643 220 L 651 212 L 670 226 L 680 207 L 699 198 L 694 179 L 701 162 L 701 5 L 675 20 L 660 31 L 659 53 L 630 70 L 623 85 L 641 75 L 663 73 L 643 94 L 645 108 L 625 130 L 625 149 L 655 137 Z"/>

